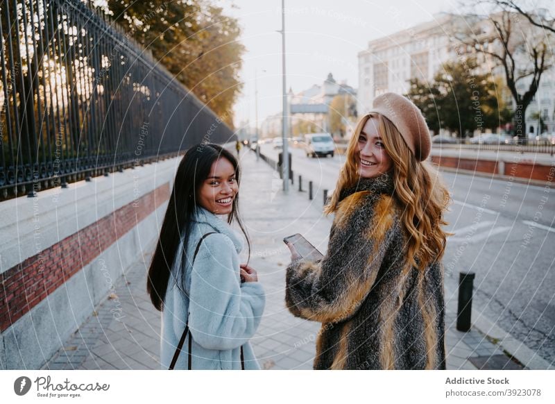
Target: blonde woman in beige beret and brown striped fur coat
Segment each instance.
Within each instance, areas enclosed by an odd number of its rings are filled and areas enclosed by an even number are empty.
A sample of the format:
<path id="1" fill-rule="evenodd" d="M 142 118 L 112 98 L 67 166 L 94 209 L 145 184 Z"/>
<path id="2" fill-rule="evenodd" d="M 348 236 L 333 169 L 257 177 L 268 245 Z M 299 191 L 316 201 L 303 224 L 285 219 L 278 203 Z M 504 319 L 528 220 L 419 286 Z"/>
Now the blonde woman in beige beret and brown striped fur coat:
<path id="1" fill-rule="evenodd" d="M 450 196 L 425 162 L 424 117 L 377 96 L 352 135 L 335 192 L 327 255 L 293 246 L 286 302 L 319 321 L 315 369 L 445 369 L 441 226 Z"/>

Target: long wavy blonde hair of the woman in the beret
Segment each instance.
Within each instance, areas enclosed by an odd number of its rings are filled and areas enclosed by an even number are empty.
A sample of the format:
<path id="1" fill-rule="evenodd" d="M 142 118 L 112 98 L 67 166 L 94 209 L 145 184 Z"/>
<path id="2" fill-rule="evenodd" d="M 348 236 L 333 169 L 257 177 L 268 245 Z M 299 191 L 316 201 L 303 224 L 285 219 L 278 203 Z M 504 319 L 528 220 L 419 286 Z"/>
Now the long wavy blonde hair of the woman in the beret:
<path id="1" fill-rule="evenodd" d="M 370 113 L 357 124 L 347 147 L 345 164 L 324 212 L 335 212 L 341 190 L 356 185 L 359 180 L 359 135 L 371 118 L 377 119 L 384 148 L 393 162 L 394 196 L 402 210 L 402 224 L 409 235 L 407 258 L 413 266 L 425 269 L 440 260 L 445 252 L 450 233 L 443 231 L 441 226 L 447 224 L 443 214 L 450 203 L 450 195 L 438 171 L 429 162 L 416 160 L 395 125 L 386 117 Z"/>

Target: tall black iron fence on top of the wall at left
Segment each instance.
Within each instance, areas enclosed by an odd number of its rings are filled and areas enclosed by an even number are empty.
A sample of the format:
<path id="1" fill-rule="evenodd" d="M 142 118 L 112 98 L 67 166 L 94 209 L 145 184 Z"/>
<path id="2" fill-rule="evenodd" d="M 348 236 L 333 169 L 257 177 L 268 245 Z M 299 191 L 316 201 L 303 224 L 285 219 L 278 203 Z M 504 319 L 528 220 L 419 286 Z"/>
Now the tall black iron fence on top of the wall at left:
<path id="1" fill-rule="evenodd" d="M 0 199 L 234 140 L 83 1 L 3 0 L 0 41 Z"/>

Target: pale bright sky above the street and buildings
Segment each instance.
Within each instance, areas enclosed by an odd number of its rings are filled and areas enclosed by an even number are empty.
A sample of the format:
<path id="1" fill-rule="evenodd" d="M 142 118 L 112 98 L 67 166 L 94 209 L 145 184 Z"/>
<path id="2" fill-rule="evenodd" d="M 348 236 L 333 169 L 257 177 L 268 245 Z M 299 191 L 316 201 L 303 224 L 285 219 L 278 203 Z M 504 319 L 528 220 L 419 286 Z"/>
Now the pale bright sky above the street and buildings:
<path id="1" fill-rule="evenodd" d="M 235 124 L 255 122 L 255 75 L 258 115 L 282 110 L 281 0 L 236 0 L 228 12 L 239 19 L 246 46 L 241 78 L 243 96 Z M 434 20 L 456 10 L 454 0 L 286 0 L 287 89 L 300 92 L 321 84 L 328 73 L 358 87 L 357 54 L 368 41 Z"/>

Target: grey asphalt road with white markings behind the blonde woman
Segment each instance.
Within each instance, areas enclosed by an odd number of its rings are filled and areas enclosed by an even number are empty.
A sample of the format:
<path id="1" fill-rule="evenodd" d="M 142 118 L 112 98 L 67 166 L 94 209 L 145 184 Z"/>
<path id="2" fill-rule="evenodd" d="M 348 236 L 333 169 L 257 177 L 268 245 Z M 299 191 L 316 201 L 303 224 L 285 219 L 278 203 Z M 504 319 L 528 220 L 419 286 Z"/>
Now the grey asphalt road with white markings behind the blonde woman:
<path id="1" fill-rule="evenodd" d="M 278 150 L 262 145 L 277 160 Z M 333 190 L 344 157 L 293 155 L 295 185 Z M 473 307 L 545 360 L 555 361 L 555 189 L 443 171 L 453 203 L 446 219 L 445 283 L 474 272 Z M 456 298 L 456 296 L 448 296 Z"/>

